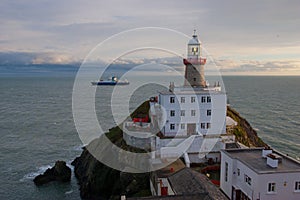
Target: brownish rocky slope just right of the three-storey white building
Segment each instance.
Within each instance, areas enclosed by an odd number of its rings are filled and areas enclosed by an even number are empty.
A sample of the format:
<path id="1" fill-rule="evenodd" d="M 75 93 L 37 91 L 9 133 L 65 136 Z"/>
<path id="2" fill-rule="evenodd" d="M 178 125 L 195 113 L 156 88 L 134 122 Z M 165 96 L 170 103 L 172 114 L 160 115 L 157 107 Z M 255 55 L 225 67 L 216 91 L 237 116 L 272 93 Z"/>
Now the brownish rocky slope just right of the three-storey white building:
<path id="1" fill-rule="evenodd" d="M 251 127 L 249 122 L 240 116 L 240 114 L 231 107 L 227 107 L 227 116 L 234 119 L 238 125 L 231 130 L 236 136 L 238 142 L 248 147 L 267 147 L 257 135 L 257 132 Z"/>

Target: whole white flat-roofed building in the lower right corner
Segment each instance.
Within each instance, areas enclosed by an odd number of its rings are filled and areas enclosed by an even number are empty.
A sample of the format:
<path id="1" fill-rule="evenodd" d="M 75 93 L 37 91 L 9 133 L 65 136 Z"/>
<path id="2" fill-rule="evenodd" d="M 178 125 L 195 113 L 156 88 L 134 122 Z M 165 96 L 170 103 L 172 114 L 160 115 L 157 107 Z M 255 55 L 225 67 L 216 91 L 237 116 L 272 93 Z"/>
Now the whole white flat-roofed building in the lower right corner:
<path id="1" fill-rule="evenodd" d="M 221 189 L 230 199 L 300 199 L 300 163 L 279 152 L 221 151 Z"/>

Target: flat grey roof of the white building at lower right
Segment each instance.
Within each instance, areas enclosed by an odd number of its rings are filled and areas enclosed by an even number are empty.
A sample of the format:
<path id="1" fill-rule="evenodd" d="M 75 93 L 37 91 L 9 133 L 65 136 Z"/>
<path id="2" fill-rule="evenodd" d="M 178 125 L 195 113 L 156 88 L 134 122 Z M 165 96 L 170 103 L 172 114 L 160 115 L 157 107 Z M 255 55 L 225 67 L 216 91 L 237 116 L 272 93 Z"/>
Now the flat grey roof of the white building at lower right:
<path id="1" fill-rule="evenodd" d="M 262 157 L 262 149 L 263 148 L 227 149 L 222 150 L 222 152 L 231 158 L 241 161 L 258 174 L 300 172 L 300 163 L 298 161 L 274 150 L 273 153 L 282 157 L 282 162 L 278 163 L 277 168 L 268 166 L 267 159 Z"/>

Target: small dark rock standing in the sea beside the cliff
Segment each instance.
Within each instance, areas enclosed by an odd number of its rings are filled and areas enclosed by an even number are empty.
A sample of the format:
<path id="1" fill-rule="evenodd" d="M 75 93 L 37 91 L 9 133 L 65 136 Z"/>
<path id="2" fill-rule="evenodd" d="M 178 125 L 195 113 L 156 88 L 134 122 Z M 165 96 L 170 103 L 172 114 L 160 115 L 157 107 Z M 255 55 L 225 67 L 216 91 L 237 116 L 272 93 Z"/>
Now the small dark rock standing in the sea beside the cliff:
<path id="1" fill-rule="evenodd" d="M 36 185 L 43 185 L 51 181 L 68 182 L 71 180 L 71 169 L 65 161 L 56 161 L 54 167 L 48 168 L 45 173 L 36 176 L 33 181 Z"/>

